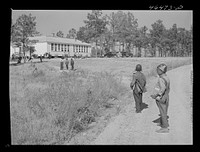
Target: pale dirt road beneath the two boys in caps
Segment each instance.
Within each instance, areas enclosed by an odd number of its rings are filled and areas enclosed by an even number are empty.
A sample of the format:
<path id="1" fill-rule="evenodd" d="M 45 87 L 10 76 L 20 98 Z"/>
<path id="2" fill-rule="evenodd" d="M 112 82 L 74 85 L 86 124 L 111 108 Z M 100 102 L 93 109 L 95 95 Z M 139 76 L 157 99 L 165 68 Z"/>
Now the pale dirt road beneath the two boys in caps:
<path id="1" fill-rule="evenodd" d="M 148 92 L 143 96 L 148 108 L 136 114 L 133 101 L 91 144 L 192 144 L 191 71 L 192 65 L 187 65 L 167 72 L 171 81 L 168 134 L 156 133 L 160 127 L 152 122 L 159 113 L 155 101 L 150 98 L 152 84 L 156 81 L 154 77 L 148 81 Z"/>

